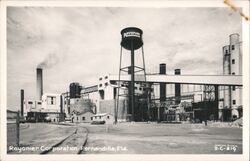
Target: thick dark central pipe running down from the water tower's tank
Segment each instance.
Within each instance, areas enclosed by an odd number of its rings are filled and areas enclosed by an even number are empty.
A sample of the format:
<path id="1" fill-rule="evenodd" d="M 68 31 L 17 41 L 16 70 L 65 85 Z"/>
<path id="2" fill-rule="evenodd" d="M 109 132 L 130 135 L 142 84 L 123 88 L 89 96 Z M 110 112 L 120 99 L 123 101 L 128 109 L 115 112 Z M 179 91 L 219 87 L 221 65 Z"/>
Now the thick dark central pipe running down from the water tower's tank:
<path id="1" fill-rule="evenodd" d="M 135 68 L 134 68 L 134 44 L 131 41 L 131 107 L 132 107 L 132 121 L 135 121 Z"/>

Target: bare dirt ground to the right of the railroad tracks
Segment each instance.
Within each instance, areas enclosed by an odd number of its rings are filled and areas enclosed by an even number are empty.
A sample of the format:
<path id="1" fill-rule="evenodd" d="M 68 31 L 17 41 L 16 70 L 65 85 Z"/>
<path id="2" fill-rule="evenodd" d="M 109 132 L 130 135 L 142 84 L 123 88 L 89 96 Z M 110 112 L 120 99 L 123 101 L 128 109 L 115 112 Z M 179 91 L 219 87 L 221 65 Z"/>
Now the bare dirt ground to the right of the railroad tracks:
<path id="1" fill-rule="evenodd" d="M 80 125 L 86 154 L 241 154 L 242 129 L 202 124 Z"/>

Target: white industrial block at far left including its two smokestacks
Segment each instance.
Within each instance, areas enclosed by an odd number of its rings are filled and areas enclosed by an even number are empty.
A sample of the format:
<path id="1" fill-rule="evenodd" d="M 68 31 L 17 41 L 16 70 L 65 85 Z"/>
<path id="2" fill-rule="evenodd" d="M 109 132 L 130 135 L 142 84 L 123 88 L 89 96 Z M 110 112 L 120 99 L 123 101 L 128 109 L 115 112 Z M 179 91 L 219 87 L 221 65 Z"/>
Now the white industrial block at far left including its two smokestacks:
<path id="1" fill-rule="evenodd" d="M 60 122 L 64 120 L 61 94 L 43 93 L 43 70 L 36 69 L 37 100 L 25 100 L 21 90 L 21 116 L 30 122 Z"/>

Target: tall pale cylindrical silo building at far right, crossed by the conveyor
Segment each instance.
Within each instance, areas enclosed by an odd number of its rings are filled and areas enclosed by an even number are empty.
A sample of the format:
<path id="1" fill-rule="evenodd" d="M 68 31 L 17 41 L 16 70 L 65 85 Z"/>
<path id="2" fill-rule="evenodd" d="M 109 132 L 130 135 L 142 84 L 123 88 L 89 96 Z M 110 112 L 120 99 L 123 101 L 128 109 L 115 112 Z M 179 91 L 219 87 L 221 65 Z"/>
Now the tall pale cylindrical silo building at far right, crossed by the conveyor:
<path id="1" fill-rule="evenodd" d="M 224 75 L 242 75 L 241 45 L 239 34 L 229 36 L 229 45 L 223 47 Z M 220 91 L 220 117 L 227 121 L 230 117 L 242 117 L 242 87 L 224 86 Z"/>

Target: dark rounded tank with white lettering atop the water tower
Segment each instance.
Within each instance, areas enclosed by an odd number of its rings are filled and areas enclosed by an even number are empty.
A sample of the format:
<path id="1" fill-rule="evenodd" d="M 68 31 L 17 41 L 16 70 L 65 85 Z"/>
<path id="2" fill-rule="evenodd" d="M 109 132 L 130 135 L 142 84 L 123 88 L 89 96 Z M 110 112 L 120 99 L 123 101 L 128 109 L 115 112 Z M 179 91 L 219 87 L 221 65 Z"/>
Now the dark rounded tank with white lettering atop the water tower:
<path id="1" fill-rule="evenodd" d="M 143 45 L 142 30 L 136 27 L 128 27 L 121 31 L 121 46 L 127 50 L 136 50 Z"/>

